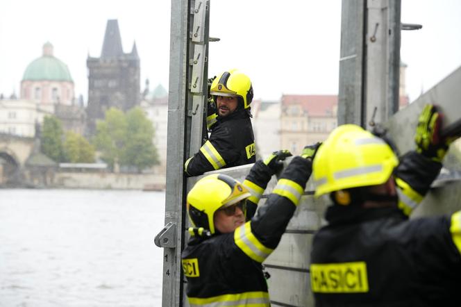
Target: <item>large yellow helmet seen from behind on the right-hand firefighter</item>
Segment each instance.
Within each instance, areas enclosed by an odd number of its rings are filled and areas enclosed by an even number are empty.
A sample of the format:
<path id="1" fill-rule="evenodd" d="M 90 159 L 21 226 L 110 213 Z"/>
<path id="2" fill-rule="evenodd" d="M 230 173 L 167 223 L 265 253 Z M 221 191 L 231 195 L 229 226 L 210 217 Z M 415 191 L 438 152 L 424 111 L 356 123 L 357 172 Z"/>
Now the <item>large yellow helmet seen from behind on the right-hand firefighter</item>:
<path id="1" fill-rule="evenodd" d="M 312 165 L 315 196 L 385 183 L 399 159 L 381 138 L 354 124 L 333 130 Z"/>

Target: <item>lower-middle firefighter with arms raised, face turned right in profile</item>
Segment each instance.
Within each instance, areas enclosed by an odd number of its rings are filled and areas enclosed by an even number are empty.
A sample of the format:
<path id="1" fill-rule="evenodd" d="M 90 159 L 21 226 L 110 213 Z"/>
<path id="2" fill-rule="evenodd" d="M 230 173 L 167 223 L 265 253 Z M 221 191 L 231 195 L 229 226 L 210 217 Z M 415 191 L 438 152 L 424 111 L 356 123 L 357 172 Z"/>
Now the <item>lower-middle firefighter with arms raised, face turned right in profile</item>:
<path id="1" fill-rule="evenodd" d="M 265 206 L 248 222 L 246 207 L 258 204 L 287 151 L 258 160 L 242 184 L 224 174 L 197 181 L 187 194 L 194 227 L 182 254 L 190 306 L 270 306 L 262 262 L 299 204 L 317 147 L 306 147 L 303 156 L 292 159 Z"/>

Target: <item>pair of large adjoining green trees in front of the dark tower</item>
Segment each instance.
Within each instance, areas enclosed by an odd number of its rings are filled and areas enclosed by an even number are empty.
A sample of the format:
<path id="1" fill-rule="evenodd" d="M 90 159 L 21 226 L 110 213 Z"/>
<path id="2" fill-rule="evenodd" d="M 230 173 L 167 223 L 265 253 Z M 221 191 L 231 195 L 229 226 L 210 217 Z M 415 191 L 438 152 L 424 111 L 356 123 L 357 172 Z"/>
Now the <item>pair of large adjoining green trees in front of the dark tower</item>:
<path id="1" fill-rule="evenodd" d="M 153 145 L 155 131 L 141 108 L 124 114 L 110 108 L 106 119 L 97 123 L 94 138 L 101 158 L 112 168 L 115 163 L 135 167 L 138 171 L 158 163 L 157 149 Z"/>

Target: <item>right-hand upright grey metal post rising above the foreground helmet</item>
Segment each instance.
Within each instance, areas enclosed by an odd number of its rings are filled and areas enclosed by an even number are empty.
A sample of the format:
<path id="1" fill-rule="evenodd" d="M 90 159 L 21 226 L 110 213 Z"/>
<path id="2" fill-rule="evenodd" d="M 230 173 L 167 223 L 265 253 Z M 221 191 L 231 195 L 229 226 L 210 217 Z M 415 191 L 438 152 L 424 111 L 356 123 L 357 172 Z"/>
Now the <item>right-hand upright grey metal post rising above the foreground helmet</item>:
<path id="1" fill-rule="evenodd" d="M 342 1 L 338 124 L 386 122 L 399 108 L 400 0 Z"/>

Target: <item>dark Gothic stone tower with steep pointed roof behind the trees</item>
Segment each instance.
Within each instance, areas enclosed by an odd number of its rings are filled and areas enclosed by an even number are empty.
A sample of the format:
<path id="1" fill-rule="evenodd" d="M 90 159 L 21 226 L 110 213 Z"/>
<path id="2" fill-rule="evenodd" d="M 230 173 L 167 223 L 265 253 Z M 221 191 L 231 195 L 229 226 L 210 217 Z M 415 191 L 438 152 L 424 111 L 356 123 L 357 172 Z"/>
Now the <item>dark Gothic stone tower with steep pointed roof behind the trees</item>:
<path id="1" fill-rule="evenodd" d="M 127 110 L 140 104 L 140 58 L 136 43 L 124 53 L 117 19 L 108 20 L 100 58 L 87 58 L 87 135 L 111 107 Z"/>

